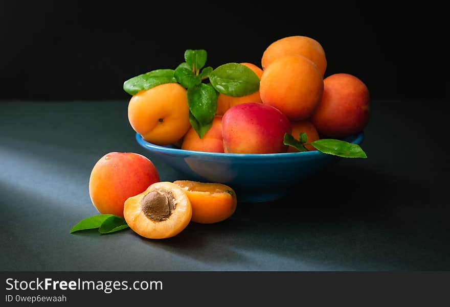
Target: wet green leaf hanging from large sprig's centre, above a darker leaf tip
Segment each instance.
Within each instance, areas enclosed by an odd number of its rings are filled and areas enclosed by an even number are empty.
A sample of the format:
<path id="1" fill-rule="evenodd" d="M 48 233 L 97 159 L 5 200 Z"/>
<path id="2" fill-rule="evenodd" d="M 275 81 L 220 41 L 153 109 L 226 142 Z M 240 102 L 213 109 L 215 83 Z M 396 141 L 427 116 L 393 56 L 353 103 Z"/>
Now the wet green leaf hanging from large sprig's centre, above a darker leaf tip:
<path id="1" fill-rule="evenodd" d="M 201 83 L 187 92 L 188 106 L 200 125 L 213 121 L 217 111 L 217 92 L 210 84 Z"/>

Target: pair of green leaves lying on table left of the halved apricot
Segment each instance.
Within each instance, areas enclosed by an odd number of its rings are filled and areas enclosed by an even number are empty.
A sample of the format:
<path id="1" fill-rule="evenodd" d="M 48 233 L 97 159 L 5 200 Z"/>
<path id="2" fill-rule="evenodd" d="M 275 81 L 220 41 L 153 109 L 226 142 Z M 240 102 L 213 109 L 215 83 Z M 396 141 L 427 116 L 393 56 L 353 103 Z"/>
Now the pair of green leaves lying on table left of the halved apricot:
<path id="1" fill-rule="evenodd" d="M 95 228 L 98 228 L 100 233 L 111 233 L 128 228 L 128 224 L 121 217 L 112 214 L 99 214 L 81 220 L 72 227 L 70 233 Z"/>

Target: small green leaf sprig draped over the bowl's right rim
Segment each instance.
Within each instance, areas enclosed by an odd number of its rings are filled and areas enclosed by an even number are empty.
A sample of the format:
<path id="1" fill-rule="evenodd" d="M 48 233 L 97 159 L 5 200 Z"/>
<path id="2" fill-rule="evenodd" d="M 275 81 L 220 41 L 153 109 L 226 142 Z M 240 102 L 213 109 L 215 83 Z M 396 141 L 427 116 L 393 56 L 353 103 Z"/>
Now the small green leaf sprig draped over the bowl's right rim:
<path id="1" fill-rule="evenodd" d="M 364 150 L 357 144 L 348 143 L 340 139 L 321 138 L 311 143 L 306 143 L 308 136 L 305 132 L 300 133 L 297 140 L 289 133 L 284 134 L 284 145 L 292 146 L 298 151 L 308 151 L 305 145 L 311 145 L 325 154 L 344 157 L 344 158 L 367 158 Z"/>

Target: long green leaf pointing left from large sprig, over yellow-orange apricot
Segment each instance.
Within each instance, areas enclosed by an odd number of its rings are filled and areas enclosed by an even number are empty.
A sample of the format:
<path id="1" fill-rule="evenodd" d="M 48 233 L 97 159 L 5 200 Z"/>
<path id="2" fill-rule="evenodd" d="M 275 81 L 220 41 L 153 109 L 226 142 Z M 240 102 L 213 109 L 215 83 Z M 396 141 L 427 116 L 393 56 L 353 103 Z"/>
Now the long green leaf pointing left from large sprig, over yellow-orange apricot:
<path id="1" fill-rule="evenodd" d="M 140 90 L 147 90 L 164 83 L 176 83 L 173 74 L 173 69 L 152 70 L 146 74 L 128 79 L 123 83 L 123 89 L 130 95 L 136 95 Z"/>

